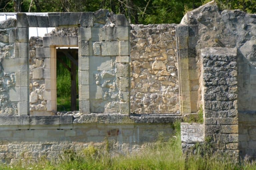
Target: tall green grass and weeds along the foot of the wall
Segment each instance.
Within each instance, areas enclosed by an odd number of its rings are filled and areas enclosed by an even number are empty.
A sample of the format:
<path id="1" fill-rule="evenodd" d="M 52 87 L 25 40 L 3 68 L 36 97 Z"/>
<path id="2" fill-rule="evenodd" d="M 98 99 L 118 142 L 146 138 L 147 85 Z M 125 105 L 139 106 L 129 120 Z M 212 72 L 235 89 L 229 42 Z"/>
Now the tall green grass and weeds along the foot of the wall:
<path id="1" fill-rule="evenodd" d="M 181 153 L 180 124 L 175 124 L 177 133 L 168 142 L 164 142 L 163 135 L 159 135 L 158 140 L 146 147 L 141 152 L 122 155 L 109 153 L 109 143 L 106 142 L 102 149 L 89 146 L 81 153 L 65 151 L 59 160 L 50 162 L 45 159 L 34 164 L 1 165 L 0 170 L 253 170 L 256 169 L 256 162 L 241 161 L 234 163 L 228 157 L 220 157 L 205 150 L 204 156 L 202 148 L 197 148 L 195 155 L 185 157 Z M 208 145 L 209 146 L 209 145 Z M 205 147 L 206 148 L 206 147 Z"/>

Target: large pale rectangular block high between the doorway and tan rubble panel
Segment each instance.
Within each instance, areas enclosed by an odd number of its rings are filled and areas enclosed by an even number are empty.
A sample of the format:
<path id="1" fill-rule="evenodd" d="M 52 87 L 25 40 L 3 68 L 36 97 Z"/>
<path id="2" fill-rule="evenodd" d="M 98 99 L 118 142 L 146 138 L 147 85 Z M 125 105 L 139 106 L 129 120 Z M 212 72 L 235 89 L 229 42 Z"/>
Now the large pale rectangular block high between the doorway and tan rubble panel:
<path id="1" fill-rule="evenodd" d="M 104 56 L 119 55 L 119 44 L 118 42 L 102 42 L 101 52 Z"/>

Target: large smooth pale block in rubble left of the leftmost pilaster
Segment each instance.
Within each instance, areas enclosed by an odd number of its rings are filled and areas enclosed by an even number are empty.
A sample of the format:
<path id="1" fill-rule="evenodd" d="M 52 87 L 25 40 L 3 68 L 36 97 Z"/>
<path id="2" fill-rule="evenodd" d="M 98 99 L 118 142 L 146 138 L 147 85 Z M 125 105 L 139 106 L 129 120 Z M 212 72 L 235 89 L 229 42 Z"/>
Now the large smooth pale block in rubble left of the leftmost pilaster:
<path id="1" fill-rule="evenodd" d="M 18 72 L 19 58 L 2 58 L 1 65 L 4 72 Z"/>

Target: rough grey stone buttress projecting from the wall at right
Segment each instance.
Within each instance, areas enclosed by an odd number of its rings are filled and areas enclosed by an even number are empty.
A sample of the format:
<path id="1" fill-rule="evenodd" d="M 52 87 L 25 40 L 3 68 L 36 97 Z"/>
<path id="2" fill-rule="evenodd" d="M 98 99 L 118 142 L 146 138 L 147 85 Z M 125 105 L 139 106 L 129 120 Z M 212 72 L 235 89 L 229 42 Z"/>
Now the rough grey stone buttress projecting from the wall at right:
<path id="1" fill-rule="evenodd" d="M 205 138 L 238 158 L 237 49 L 207 47 L 201 58 Z"/>

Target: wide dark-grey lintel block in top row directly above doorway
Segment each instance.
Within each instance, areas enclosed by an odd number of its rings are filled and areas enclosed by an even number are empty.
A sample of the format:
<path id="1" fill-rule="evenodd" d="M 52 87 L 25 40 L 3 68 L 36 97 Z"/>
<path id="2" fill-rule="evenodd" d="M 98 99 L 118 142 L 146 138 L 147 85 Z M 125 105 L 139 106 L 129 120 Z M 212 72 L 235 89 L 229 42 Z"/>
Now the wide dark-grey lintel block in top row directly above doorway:
<path id="1" fill-rule="evenodd" d="M 59 26 L 78 25 L 81 12 L 60 13 Z"/>

